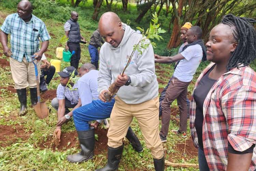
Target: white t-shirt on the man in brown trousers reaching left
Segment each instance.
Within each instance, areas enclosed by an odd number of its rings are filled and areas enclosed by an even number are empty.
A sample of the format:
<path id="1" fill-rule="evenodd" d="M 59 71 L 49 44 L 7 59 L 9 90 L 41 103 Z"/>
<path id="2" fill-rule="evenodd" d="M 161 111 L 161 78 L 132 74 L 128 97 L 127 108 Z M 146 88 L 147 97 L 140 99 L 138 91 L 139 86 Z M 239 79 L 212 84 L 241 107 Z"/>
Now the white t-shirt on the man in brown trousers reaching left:
<path id="1" fill-rule="evenodd" d="M 182 59 L 177 65 L 173 76 L 183 82 L 190 82 L 202 60 L 203 50 L 199 44 L 188 46 L 181 55 Z"/>

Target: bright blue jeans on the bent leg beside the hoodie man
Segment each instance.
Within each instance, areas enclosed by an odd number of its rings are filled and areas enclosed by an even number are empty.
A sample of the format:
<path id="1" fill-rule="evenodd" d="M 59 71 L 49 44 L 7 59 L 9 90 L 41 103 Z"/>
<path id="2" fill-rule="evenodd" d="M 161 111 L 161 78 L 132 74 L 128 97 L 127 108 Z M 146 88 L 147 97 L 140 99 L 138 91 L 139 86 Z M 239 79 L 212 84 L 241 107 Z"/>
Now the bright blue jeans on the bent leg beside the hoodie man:
<path id="1" fill-rule="evenodd" d="M 101 100 L 93 100 L 93 102 L 75 109 L 73 111 L 73 119 L 76 130 L 87 131 L 90 129 L 89 121 L 109 118 L 114 103 L 115 99 L 106 103 Z"/>

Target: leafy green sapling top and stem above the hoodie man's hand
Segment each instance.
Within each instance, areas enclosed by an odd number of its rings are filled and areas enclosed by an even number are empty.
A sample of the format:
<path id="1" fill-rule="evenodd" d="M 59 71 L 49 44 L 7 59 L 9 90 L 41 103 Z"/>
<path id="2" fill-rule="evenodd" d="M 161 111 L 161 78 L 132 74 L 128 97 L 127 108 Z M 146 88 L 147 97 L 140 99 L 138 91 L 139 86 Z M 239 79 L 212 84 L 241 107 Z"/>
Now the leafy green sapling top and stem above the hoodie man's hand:
<path id="1" fill-rule="evenodd" d="M 160 23 L 158 24 L 158 17 L 157 17 L 157 13 L 155 12 L 155 14 L 152 14 L 152 22 L 150 22 L 150 27 L 145 31 L 144 28 L 140 28 L 137 27 L 137 29 L 139 29 L 142 33 L 142 38 L 141 40 L 137 43 L 133 45 L 133 51 L 129 57 L 129 60 L 122 72 L 122 76 L 124 75 L 124 72 L 126 70 L 126 68 L 129 66 L 132 56 L 135 53 L 135 51 L 137 51 L 140 55 L 143 53 L 143 51 L 145 49 L 148 48 L 148 46 L 150 44 L 152 44 L 152 46 L 155 48 L 156 47 L 156 43 L 153 42 L 153 39 L 157 39 L 159 40 L 163 40 L 163 38 L 159 35 L 160 33 L 165 33 L 166 31 L 161 29 L 160 27 Z"/>

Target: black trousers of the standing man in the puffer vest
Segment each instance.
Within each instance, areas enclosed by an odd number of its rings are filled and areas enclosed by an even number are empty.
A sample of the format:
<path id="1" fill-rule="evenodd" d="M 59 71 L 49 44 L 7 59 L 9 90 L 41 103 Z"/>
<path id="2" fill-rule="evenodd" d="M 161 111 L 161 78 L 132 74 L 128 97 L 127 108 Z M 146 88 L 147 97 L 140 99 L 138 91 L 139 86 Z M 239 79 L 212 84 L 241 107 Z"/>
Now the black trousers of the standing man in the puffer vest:
<path id="1" fill-rule="evenodd" d="M 75 51 L 75 54 L 71 56 L 70 60 L 70 66 L 75 67 L 75 69 L 78 69 L 79 60 L 81 58 L 81 47 L 80 43 L 70 43 L 68 42 L 69 51 L 72 53 L 72 51 Z"/>

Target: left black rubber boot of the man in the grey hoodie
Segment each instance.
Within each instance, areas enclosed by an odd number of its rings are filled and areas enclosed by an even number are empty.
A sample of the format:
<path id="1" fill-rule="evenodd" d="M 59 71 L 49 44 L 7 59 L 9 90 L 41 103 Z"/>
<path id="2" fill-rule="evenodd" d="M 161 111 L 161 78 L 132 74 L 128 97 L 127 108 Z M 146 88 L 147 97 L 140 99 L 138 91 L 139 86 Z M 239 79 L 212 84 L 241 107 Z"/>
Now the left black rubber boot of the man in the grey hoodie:
<path id="1" fill-rule="evenodd" d="M 119 162 L 122 158 L 124 144 L 117 148 L 108 147 L 108 163 L 104 168 L 95 171 L 117 171 Z"/>

